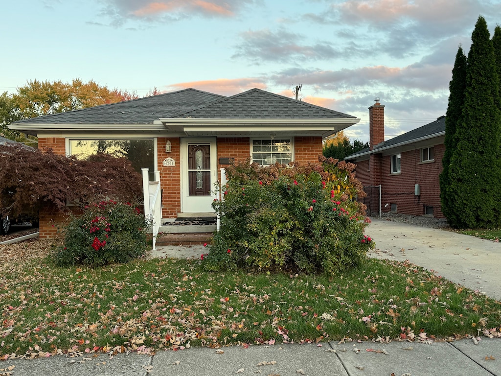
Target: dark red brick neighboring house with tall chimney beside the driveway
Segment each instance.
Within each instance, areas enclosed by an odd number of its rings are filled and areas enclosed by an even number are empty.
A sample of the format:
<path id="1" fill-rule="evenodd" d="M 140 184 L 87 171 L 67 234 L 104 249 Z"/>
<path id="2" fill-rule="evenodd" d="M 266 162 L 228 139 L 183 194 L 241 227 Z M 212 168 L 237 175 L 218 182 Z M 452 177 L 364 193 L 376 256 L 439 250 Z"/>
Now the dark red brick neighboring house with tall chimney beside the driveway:
<path id="1" fill-rule="evenodd" d="M 381 208 L 382 212 L 444 218 L 439 186 L 444 135 L 445 116 L 441 116 L 385 141 L 384 106 L 376 98 L 369 107 L 369 148 L 345 158 L 357 165 L 356 177 L 364 186 L 381 185 L 380 204 L 379 190 L 363 201 L 371 214 Z"/>

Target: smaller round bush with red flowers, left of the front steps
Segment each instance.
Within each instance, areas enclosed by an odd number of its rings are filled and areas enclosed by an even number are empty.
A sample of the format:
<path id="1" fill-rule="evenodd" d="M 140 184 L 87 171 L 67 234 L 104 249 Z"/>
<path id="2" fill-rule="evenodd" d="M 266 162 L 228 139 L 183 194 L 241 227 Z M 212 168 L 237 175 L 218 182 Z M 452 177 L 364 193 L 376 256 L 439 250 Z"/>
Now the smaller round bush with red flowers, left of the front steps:
<path id="1" fill-rule="evenodd" d="M 130 203 L 102 201 L 86 206 L 64 229 L 64 246 L 58 247 L 59 265 L 100 266 L 126 263 L 144 255 L 148 224 Z"/>

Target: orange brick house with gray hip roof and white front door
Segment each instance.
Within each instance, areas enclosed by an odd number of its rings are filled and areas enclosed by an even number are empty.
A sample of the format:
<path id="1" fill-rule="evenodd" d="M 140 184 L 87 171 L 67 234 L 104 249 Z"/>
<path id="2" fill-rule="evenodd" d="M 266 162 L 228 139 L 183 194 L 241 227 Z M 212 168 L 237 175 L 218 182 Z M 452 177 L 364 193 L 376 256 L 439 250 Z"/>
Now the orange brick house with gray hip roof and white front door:
<path id="1" fill-rule="evenodd" d="M 250 157 L 318 162 L 322 139 L 359 122 L 355 116 L 260 89 L 231 97 L 196 89 L 18 121 L 58 154 L 121 151 L 139 169 L 160 172 L 162 217 L 214 215 L 219 168 Z M 151 179 L 151 178 L 150 178 Z M 40 236 L 61 218 L 44 208 Z"/>

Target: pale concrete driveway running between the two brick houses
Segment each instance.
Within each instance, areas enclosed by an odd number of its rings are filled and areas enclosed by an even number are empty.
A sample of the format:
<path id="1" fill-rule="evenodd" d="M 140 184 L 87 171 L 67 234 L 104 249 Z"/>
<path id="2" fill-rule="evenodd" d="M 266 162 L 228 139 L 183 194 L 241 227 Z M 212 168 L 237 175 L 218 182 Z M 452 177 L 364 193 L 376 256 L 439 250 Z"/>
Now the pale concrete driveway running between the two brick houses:
<path id="1" fill-rule="evenodd" d="M 501 243 L 454 232 L 373 219 L 365 233 L 370 257 L 409 260 L 437 275 L 501 300 Z"/>

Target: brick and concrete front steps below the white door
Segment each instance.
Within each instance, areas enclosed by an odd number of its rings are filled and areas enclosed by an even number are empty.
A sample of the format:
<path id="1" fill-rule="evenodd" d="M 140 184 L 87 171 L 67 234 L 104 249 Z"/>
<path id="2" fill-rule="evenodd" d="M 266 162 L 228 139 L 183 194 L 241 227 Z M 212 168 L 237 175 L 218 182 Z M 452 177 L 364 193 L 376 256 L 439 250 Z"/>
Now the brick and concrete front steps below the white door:
<path id="1" fill-rule="evenodd" d="M 162 222 L 164 223 L 164 222 Z M 209 244 L 215 225 L 160 226 L 157 246 L 196 246 Z"/>

